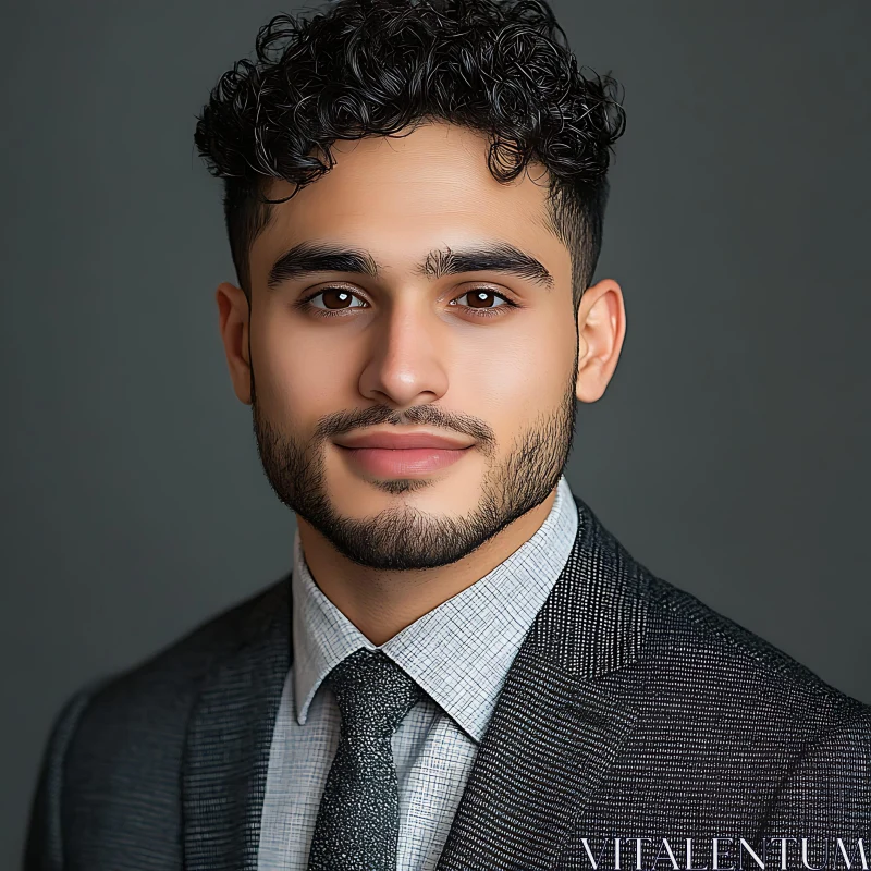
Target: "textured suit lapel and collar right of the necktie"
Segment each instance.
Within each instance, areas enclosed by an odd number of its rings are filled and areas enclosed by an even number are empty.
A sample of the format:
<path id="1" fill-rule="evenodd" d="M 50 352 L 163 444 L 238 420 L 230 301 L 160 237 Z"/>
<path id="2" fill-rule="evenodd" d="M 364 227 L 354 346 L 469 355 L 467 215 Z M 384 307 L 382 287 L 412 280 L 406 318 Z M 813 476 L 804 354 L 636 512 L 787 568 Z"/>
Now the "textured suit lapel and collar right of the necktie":
<path id="1" fill-rule="evenodd" d="M 635 722 L 633 561 L 577 496 L 578 535 L 506 677 L 438 871 L 552 867 Z"/>

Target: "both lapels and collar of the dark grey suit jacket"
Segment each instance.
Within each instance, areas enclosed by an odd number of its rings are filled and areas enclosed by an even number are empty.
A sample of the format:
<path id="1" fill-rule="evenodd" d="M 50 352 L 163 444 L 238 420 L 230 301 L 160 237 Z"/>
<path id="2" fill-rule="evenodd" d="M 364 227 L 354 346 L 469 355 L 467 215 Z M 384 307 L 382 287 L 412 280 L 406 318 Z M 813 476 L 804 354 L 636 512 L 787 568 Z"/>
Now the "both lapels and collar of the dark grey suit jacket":
<path id="1" fill-rule="evenodd" d="M 650 575 L 577 495 L 569 557 L 508 672 L 438 871 L 545 869 L 636 719 Z M 272 729 L 290 668 L 290 576 L 205 675 L 182 770 L 187 871 L 257 871 Z"/>

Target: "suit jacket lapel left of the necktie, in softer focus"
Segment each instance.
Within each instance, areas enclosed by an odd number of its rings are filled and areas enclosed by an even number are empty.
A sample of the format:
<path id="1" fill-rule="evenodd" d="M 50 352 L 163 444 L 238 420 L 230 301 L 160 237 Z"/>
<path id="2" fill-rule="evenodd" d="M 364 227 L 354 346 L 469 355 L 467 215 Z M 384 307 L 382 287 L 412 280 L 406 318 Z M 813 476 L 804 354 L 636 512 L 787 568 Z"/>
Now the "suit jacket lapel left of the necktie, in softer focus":
<path id="1" fill-rule="evenodd" d="M 256 871 L 269 750 L 290 668 L 290 576 L 206 675 L 182 766 L 185 871 Z"/>

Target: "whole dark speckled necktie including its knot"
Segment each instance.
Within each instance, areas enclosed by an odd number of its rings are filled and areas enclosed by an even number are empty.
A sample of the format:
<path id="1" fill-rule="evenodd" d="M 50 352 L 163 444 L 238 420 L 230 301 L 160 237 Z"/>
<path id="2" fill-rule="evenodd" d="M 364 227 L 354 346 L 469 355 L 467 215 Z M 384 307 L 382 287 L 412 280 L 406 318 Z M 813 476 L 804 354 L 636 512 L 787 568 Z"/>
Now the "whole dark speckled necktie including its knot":
<path id="1" fill-rule="evenodd" d="M 396 871 L 400 797 L 391 736 L 424 691 L 380 650 L 360 648 L 327 677 L 342 714 L 308 871 Z"/>

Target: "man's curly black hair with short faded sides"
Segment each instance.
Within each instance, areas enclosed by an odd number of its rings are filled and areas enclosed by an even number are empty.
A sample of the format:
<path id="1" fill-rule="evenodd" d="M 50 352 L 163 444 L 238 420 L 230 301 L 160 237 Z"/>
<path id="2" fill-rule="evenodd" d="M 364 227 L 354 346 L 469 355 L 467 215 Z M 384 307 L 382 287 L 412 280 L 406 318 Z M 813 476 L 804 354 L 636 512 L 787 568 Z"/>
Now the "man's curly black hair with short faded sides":
<path id="1" fill-rule="evenodd" d="M 250 246 L 272 204 L 285 201 L 267 198 L 268 179 L 296 193 L 333 165 L 339 139 L 443 120 L 488 137 L 500 181 L 530 161 L 548 170 L 548 217 L 572 253 L 577 308 L 599 258 L 605 173 L 625 113 L 610 75 L 578 70 L 545 0 L 338 0 L 310 19 L 273 17 L 256 56 L 221 76 L 194 135 L 223 179 L 230 249 L 249 302 Z"/>

